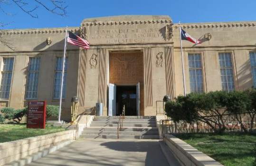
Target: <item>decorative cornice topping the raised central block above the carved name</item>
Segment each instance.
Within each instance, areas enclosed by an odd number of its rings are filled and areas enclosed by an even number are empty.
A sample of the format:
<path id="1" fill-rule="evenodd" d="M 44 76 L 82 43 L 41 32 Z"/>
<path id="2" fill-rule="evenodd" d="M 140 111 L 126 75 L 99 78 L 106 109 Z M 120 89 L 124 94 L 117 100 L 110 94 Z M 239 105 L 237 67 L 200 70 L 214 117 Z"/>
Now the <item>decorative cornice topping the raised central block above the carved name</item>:
<path id="1" fill-rule="evenodd" d="M 152 19 L 152 20 L 133 20 L 133 21 L 95 21 L 83 22 L 82 26 L 104 26 L 104 25 L 129 25 L 129 24 L 168 24 L 172 23 L 171 19 Z"/>

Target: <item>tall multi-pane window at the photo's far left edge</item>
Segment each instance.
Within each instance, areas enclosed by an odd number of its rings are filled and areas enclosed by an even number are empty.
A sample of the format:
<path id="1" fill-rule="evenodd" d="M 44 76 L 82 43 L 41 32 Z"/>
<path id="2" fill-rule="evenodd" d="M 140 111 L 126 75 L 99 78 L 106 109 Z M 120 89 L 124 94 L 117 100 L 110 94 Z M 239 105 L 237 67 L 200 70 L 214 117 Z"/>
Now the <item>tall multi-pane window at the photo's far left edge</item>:
<path id="1" fill-rule="evenodd" d="M 3 58 L 0 98 L 9 99 L 14 58 Z"/>

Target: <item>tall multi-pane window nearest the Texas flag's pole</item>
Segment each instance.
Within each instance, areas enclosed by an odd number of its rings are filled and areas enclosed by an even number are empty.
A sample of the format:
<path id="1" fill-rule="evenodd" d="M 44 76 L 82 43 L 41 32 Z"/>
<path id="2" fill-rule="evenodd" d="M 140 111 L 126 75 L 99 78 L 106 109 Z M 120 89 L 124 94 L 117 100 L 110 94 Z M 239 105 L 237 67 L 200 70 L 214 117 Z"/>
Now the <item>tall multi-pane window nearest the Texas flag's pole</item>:
<path id="1" fill-rule="evenodd" d="M 190 92 L 203 92 L 203 76 L 201 55 L 198 53 L 189 54 L 189 70 L 190 70 Z"/>

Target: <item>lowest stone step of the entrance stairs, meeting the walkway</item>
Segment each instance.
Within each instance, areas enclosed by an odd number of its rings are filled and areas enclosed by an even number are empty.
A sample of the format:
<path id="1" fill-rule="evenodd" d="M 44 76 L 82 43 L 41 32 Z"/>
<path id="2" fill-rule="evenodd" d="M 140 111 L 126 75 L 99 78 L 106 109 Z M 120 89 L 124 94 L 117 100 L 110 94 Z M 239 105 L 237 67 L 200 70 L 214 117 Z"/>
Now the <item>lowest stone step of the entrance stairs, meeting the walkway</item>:
<path id="1" fill-rule="evenodd" d="M 117 139 L 117 134 L 82 134 L 82 138 Z M 159 139 L 159 135 L 119 135 L 120 139 Z"/>

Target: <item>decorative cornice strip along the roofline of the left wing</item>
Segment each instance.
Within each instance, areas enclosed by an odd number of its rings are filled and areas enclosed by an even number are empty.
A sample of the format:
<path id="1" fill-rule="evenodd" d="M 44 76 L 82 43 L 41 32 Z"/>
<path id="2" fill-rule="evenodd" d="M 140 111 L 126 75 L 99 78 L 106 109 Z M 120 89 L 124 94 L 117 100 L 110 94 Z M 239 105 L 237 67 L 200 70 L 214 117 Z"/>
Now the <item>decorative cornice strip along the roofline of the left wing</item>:
<path id="1" fill-rule="evenodd" d="M 12 29 L 12 30 L 0 30 L 0 35 L 19 35 L 19 34 L 61 34 L 65 33 L 66 27 L 63 28 L 47 28 L 47 29 Z M 79 31 L 79 27 L 68 28 L 71 32 Z"/>

